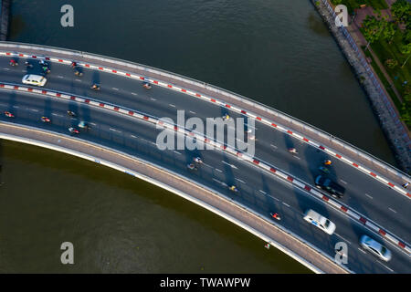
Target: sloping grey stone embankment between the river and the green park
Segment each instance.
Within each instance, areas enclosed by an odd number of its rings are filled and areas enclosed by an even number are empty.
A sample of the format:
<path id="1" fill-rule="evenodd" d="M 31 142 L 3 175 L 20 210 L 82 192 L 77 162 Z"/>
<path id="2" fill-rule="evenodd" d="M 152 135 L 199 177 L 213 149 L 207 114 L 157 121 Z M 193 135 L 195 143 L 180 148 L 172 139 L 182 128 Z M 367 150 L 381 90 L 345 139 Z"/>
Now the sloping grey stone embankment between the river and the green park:
<path id="1" fill-rule="evenodd" d="M 395 109 L 393 101 L 386 93 L 384 85 L 376 77 L 373 68 L 364 60 L 363 53 L 358 48 L 353 38 L 345 28 L 335 26 L 335 17 L 330 11 L 327 0 L 311 0 L 322 19 L 332 32 L 332 36 L 341 47 L 343 55 L 352 66 L 356 77 L 359 79 L 370 100 L 371 106 L 377 116 L 381 128 L 395 154 L 398 165 L 407 173 L 411 173 L 411 156 L 409 155 L 410 138 L 406 125 L 400 120 L 400 115 Z"/>

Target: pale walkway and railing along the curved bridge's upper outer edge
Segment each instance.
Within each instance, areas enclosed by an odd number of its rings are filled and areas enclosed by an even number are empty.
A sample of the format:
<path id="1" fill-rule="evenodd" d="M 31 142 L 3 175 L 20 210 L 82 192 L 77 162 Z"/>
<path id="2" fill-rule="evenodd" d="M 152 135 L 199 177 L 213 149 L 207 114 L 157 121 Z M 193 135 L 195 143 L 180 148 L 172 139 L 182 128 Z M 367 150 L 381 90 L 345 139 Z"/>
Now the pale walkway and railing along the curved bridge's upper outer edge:
<path id="1" fill-rule="evenodd" d="M 325 0 L 326 1 L 326 0 Z M 116 65 L 120 65 L 123 66 L 125 68 L 131 68 L 131 69 L 139 69 L 145 72 L 150 72 L 152 74 L 156 74 L 162 77 L 166 77 L 166 78 L 172 78 L 174 80 L 178 80 L 181 82 L 184 82 L 186 84 L 191 84 L 195 87 L 198 87 L 200 89 L 206 89 L 206 90 L 210 90 L 212 92 L 218 93 L 221 96 L 226 96 L 228 98 L 231 99 L 236 99 L 237 101 L 243 102 L 245 104 L 247 104 L 250 107 L 253 107 L 255 109 L 258 110 L 263 110 L 264 112 L 268 113 L 269 115 L 273 115 L 276 117 L 279 117 L 282 120 L 286 120 L 288 121 L 290 124 L 299 126 L 300 128 L 302 128 L 303 130 L 306 131 L 310 131 L 311 134 L 316 135 L 318 137 L 320 137 L 322 140 L 326 140 L 329 141 L 332 144 L 336 144 L 339 145 L 340 147 L 342 147 L 342 149 L 346 150 L 346 151 L 350 151 L 352 152 L 352 154 L 357 155 L 357 157 L 362 158 L 363 160 L 367 161 L 367 162 L 371 162 L 372 164 L 374 164 L 375 166 L 385 170 L 385 172 L 389 172 L 393 175 L 395 175 L 397 178 L 399 178 L 400 180 L 409 180 L 409 176 L 406 174 L 406 172 L 402 172 L 401 170 L 395 168 L 393 165 L 390 165 L 387 162 L 384 162 L 382 160 L 380 160 L 379 158 L 375 157 L 374 155 L 363 151 L 359 148 L 357 148 L 356 146 L 350 144 L 347 141 L 343 141 L 342 139 L 339 139 L 335 136 L 333 136 L 332 134 L 318 129 L 315 126 L 312 126 L 311 124 L 299 120 L 297 118 L 294 118 L 280 110 L 276 110 L 273 109 L 267 105 L 264 105 L 258 101 L 252 100 L 252 99 L 248 99 L 244 96 L 241 96 L 237 93 L 234 93 L 232 91 L 229 91 L 227 89 L 221 89 L 218 88 L 214 85 L 210 85 L 207 84 L 205 82 L 196 80 L 194 78 L 187 78 L 184 77 L 183 75 L 180 74 L 176 74 L 176 73 L 171 73 L 169 71 L 163 70 L 163 69 L 159 69 L 159 68 L 153 68 L 150 66 L 145 66 L 139 63 L 135 63 L 132 61 L 125 61 L 116 57 L 106 57 L 106 56 L 100 56 L 97 54 L 92 54 L 92 53 L 88 53 L 88 52 L 83 52 L 83 51 L 79 51 L 79 50 L 73 50 L 73 49 L 66 49 L 66 48 L 60 48 L 60 47 L 50 47 L 50 46 L 43 46 L 43 45 L 30 45 L 30 44 L 25 44 L 25 43 L 16 43 L 16 42 L 0 42 L 0 47 L 9 47 L 10 49 L 18 49 L 18 48 L 22 48 L 22 49 L 27 49 L 27 50 L 38 50 L 41 52 L 47 52 L 47 53 L 56 53 L 58 55 L 64 55 L 68 58 L 71 58 L 73 60 L 79 60 L 79 58 L 87 58 L 87 59 L 91 59 L 91 60 L 96 60 L 96 61 L 100 61 L 103 63 L 111 63 L 111 64 L 116 64 Z M 408 137 L 409 140 L 409 137 Z"/>

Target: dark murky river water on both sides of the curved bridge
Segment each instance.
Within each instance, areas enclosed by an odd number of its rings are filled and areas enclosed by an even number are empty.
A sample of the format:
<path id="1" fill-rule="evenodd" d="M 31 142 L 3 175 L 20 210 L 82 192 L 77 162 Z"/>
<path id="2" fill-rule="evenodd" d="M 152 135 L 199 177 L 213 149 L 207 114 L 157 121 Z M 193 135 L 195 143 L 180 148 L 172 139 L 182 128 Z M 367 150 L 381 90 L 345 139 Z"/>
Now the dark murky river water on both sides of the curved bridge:
<path id="1" fill-rule="evenodd" d="M 10 40 L 119 57 L 229 89 L 394 164 L 309 0 L 15 0 Z M 254 235 L 109 168 L 3 141 L 0 272 L 307 273 Z M 60 264 L 72 242 L 75 265 Z"/>

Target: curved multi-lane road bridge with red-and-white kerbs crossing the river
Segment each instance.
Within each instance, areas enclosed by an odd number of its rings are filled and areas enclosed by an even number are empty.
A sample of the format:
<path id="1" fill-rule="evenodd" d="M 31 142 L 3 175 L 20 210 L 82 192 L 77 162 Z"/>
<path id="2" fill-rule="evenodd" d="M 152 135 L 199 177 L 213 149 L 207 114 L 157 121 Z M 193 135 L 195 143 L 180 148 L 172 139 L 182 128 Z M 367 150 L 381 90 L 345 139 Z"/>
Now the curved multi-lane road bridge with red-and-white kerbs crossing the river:
<path id="1" fill-rule="evenodd" d="M 11 58 L 20 65 L 10 67 Z M 22 76 L 37 73 L 41 59 L 51 64 L 46 87 L 22 85 Z M 25 68 L 25 61 L 32 68 Z M 72 61 L 83 76 L 73 74 Z M 142 81 L 153 88 L 143 89 Z M 16 115 L 13 120 L 1 118 L 4 139 L 103 162 L 168 188 L 226 216 L 316 272 L 410 272 L 411 195 L 401 186 L 409 176 L 300 120 L 193 79 L 54 47 L 0 43 L 0 82 L 0 110 Z M 100 84 L 100 91 L 90 89 L 94 83 Z M 67 110 L 77 117 L 68 117 Z M 184 125 L 159 122 L 162 117 L 177 120 L 177 110 L 185 110 L 186 118 L 201 120 L 225 114 L 255 119 L 256 152 L 251 156 Z M 41 116 L 50 117 L 52 123 L 40 122 Z M 91 129 L 68 137 L 68 127 L 76 127 L 79 120 L 87 120 Z M 214 150 L 161 151 L 155 143 L 159 125 L 180 136 L 202 139 Z M 290 154 L 290 147 L 298 154 Z M 105 151 L 97 155 L 98 148 Z M 195 156 L 205 163 L 190 172 L 186 165 Z M 325 159 L 333 162 L 332 179 L 346 189 L 341 199 L 314 187 Z M 230 192 L 229 185 L 237 185 L 239 192 Z M 336 232 L 326 235 L 305 222 L 302 214 L 309 208 L 335 223 Z M 269 219 L 272 210 L 283 214 L 280 222 Z M 385 263 L 364 252 L 358 242 L 363 234 L 384 243 L 392 260 Z M 348 264 L 333 262 L 338 242 L 348 245 Z"/>

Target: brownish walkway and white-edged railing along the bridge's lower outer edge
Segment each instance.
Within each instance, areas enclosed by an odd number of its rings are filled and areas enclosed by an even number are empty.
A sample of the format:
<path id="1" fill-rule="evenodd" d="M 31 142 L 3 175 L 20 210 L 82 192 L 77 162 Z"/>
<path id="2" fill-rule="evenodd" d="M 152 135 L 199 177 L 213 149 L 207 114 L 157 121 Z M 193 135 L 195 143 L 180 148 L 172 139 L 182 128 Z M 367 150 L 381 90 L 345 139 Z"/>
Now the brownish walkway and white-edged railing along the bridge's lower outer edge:
<path id="1" fill-rule="evenodd" d="M 271 224 L 274 228 L 279 229 L 282 233 L 284 233 L 286 235 L 290 235 L 291 237 L 295 238 L 295 240 L 298 240 L 302 245 L 306 245 L 306 247 L 308 249 L 310 249 L 312 253 L 318 253 L 319 255 L 324 256 L 328 260 L 328 264 L 326 264 L 325 266 L 334 266 L 334 268 L 338 266 L 339 268 L 341 268 L 340 272 L 345 271 L 345 273 L 354 273 L 352 270 L 349 270 L 346 266 L 343 266 L 342 264 L 336 263 L 334 261 L 334 258 L 332 258 L 332 256 L 322 252 L 318 247 L 316 247 L 314 245 L 311 245 L 311 243 L 307 242 L 306 240 L 301 238 L 299 235 L 294 234 L 293 232 L 291 232 L 290 230 L 288 230 L 284 226 L 281 226 L 279 224 L 273 224 L 272 222 L 270 222 L 268 217 L 256 213 L 255 211 L 249 209 L 247 206 L 243 205 L 242 203 L 237 203 L 237 202 L 231 200 L 226 195 L 224 195 L 222 193 L 218 193 L 215 190 L 210 189 L 209 187 L 207 187 L 207 186 L 205 186 L 201 183 L 194 182 L 194 181 L 192 181 L 192 180 L 190 180 L 186 177 L 182 177 L 180 174 L 178 174 L 176 172 L 170 171 L 168 169 L 164 169 L 162 166 L 159 166 L 158 164 L 155 164 L 153 162 L 147 162 L 147 161 L 143 160 L 142 158 L 137 158 L 135 156 L 131 157 L 127 153 L 111 149 L 107 146 L 103 147 L 99 144 L 95 144 L 95 143 L 90 142 L 90 141 L 84 141 L 84 140 L 80 140 L 78 138 L 72 138 L 72 137 L 69 137 L 67 135 L 63 135 L 63 134 L 60 134 L 60 133 L 55 133 L 55 132 L 52 132 L 52 131 L 49 131 L 49 130 L 37 129 L 37 128 L 33 128 L 33 127 L 30 127 L 30 126 L 26 126 L 26 125 L 25 126 L 16 125 L 14 123 L 8 123 L 8 122 L 4 122 L 4 121 L 0 122 L 0 125 L 1 124 L 5 125 L 5 126 L 15 127 L 16 129 L 41 131 L 41 132 L 47 133 L 47 135 L 49 135 L 49 136 L 55 136 L 57 138 L 64 138 L 64 139 L 73 141 L 73 143 L 81 141 L 81 143 L 88 144 L 88 145 L 90 145 L 90 147 L 97 148 L 97 149 L 100 149 L 102 151 L 105 151 L 106 154 L 107 154 L 108 151 L 113 152 L 113 153 L 118 153 L 123 157 L 126 157 L 126 158 L 130 157 L 130 160 L 132 160 L 132 161 L 141 162 L 142 164 L 153 167 L 154 169 L 161 170 L 161 172 L 168 173 L 168 175 L 178 177 L 179 179 L 184 180 L 187 183 L 194 183 L 195 185 L 197 185 L 200 188 L 204 189 L 207 193 L 217 195 L 218 197 L 221 197 L 226 203 L 230 203 L 230 204 L 234 205 L 235 207 L 241 209 L 242 212 L 246 212 L 247 214 L 252 214 L 253 216 L 258 217 L 259 219 L 261 219 L 265 222 L 269 222 L 269 224 Z M 39 146 L 39 147 L 43 147 L 43 148 L 47 148 L 47 149 L 50 149 L 50 150 L 53 150 L 53 151 L 61 151 L 61 152 L 64 152 L 64 153 L 67 153 L 67 154 L 70 154 L 70 155 L 77 156 L 79 158 L 88 160 L 90 162 L 96 162 L 98 164 L 102 164 L 102 165 L 111 167 L 112 169 L 115 169 L 117 171 L 130 174 L 130 175 L 132 175 L 136 178 L 142 179 L 142 180 L 144 180 L 148 183 L 153 183 L 154 185 L 157 185 L 157 186 L 159 186 L 159 187 L 161 187 L 161 188 L 163 188 L 163 189 L 165 189 L 169 192 L 175 193 L 175 194 L 183 197 L 184 199 L 189 200 L 192 203 L 196 203 L 196 204 L 204 207 L 205 209 L 207 209 L 207 210 L 209 210 L 209 211 L 211 211 L 215 214 L 220 215 L 221 217 L 227 219 L 228 221 L 230 221 L 234 224 L 237 224 L 239 227 L 247 230 L 248 232 L 250 232 L 253 235 L 258 236 L 259 238 L 261 238 L 265 242 L 269 243 L 270 245 L 275 246 L 276 248 L 278 248 L 280 251 L 282 251 L 286 255 L 290 255 L 291 258 L 295 259 L 300 264 L 308 267 L 309 269 L 311 269 L 311 271 L 313 271 L 317 274 L 322 274 L 324 272 L 327 272 L 325 270 L 321 270 L 319 267 L 315 266 L 310 261 L 308 261 L 305 258 L 301 257 L 296 252 L 292 251 L 290 249 L 290 247 L 279 244 L 279 242 L 277 242 L 276 240 L 271 238 L 269 235 L 266 235 L 266 234 L 258 231 L 257 229 L 253 228 L 252 226 L 249 226 L 248 224 L 245 224 L 244 222 L 242 222 L 241 220 L 238 220 L 236 217 L 234 217 L 230 214 L 225 214 L 224 212 L 222 212 L 221 210 L 216 208 L 216 206 L 213 206 L 213 205 L 205 203 L 201 200 L 198 200 L 195 197 L 191 196 L 189 193 L 184 193 L 183 191 L 178 190 L 178 189 L 174 188 L 173 186 L 170 186 L 166 183 L 163 183 L 160 178 L 153 179 L 153 177 L 144 175 L 140 172 L 136 172 L 135 170 L 127 168 L 127 167 L 125 167 L 121 164 L 117 164 L 115 162 L 104 160 L 94 151 L 91 151 L 91 152 L 93 152 L 93 154 L 90 154 L 90 153 L 86 153 L 84 151 L 76 151 L 76 150 L 70 149 L 68 147 L 62 147 L 61 146 L 61 141 L 59 139 L 58 139 L 58 141 L 60 141 L 60 142 L 58 144 L 54 144 L 54 143 L 50 143 L 50 142 L 47 142 L 47 141 L 41 141 L 39 137 L 36 138 L 36 139 L 32 139 L 32 138 L 30 139 L 28 137 L 21 136 L 21 135 L 18 135 L 18 134 L 2 133 L 1 131 L 0 131 L 0 139 L 23 142 L 23 143 L 27 143 L 27 144 L 31 144 L 31 145 L 35 145 L 35 146 Z"/>

